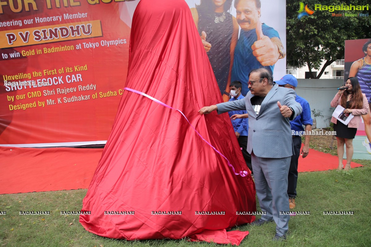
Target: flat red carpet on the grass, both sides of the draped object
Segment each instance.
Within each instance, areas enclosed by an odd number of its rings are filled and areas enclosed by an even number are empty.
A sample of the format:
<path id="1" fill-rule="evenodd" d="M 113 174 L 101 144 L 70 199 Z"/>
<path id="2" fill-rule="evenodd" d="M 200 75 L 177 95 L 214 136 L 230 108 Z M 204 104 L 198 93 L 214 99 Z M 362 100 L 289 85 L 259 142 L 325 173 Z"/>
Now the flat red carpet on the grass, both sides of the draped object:
<path id="1" fill-rule="evenodd" d="M 0 194 L 88 188 L 102 148 L 0 147 Z M 345 164 L 345 161 L 344 161 Z M 351 167 L 360 164 L 351 163 Z M 299 172 L 338 167 L 338 157 L 311 149 Z"/>

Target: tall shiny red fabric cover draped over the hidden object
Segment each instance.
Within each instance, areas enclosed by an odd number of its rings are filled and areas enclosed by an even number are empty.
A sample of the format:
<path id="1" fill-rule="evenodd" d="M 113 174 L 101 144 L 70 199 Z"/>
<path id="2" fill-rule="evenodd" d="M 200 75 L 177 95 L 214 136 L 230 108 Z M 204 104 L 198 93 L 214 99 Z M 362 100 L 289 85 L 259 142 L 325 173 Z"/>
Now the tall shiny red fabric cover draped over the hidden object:
<path id="1" fill-rule="evenodd" d="M 181 110 L 237 172 L 248 171 L 228 114 L 197 112 L 223 100 L 183 0 L 139 2 L 132 22 L 126 87 Z M 256 210 L 255 187 L 249 174 L 234 175 L 178 111 L 125 91 L 82 210 L 91 215 L 80 216 L 81 224 L 99 236 L 127 240 L 208 236 L 207 230 L 255 219 L 236 215 Z M 225 215 L 195 215 L 195 211 L 225 211 Z M 211 233 L 217 241 L 226 236 L 223 231 Z M 246 232 L 232 242 L 239 243 L 244 236 Z"/>

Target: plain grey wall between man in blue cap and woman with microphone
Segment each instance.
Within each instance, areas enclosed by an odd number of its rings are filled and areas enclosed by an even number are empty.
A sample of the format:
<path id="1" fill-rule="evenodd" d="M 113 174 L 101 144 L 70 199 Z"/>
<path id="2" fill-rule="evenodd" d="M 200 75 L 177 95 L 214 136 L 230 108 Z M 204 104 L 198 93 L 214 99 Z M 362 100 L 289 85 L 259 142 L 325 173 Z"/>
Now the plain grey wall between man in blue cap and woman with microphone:
<path id="1" fill-rule="evenodd" d="M 343 85 L 342 79 L 298 79 L 296 93 L 309 102 L 311 111 L 313 109 L 322 111 L 324 117 L 314 117 L 317 128 L 328 127 L 331 120 L 332 110 L 330 102 L 334 99 L 338 87 Z"/>

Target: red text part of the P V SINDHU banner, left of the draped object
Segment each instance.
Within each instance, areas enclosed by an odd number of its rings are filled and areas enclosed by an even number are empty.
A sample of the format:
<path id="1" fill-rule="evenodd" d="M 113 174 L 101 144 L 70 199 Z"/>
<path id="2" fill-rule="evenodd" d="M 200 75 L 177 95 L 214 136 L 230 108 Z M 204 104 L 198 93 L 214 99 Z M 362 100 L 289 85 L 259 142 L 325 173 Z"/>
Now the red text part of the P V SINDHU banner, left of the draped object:
<path id="1" fill-rule="evenodd" d="M 105 143 L 128 67 L 135 1 L 3 1 L 0 145 Z"/>

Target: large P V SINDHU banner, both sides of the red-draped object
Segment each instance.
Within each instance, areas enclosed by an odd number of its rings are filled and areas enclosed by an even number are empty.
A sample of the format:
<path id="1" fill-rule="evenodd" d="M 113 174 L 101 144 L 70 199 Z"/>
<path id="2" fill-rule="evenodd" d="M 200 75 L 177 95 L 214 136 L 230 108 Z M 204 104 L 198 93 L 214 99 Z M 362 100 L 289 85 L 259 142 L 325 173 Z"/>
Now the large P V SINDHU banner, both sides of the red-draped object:
<path id="1" fill-rule="evenodd" d="M 0 1 L 0 146 L 105 143 L 125 87 L 138 2 Z M 277 52 L 286 47 L 285 1 L 264 1 L 259 9 L 254 4 L 252 15 L 241 11 L 251 8 L 250 0 L 240 0 L 237 9 L 230 0 L 186 2 L 200 36 L 211 44 L 207 52 L 221 94 L 231 79 L 247 90 L 248 78 L 238 68 L 261 67 L 249 65 L 256 22 L 264 23 L 262 35 L 282 43 Z M 269 68 L 279 79 L 286 61 Z"/>

